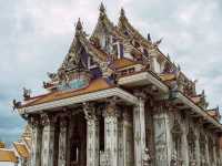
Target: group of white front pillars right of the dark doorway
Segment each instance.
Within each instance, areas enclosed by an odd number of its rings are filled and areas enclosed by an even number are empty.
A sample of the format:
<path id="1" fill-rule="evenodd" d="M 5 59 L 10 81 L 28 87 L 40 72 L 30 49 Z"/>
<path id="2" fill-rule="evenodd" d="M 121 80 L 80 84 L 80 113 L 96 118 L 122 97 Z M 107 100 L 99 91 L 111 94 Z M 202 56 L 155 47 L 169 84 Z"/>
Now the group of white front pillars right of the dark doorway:
<path id="1" fill-rule="evenodd" d="M 92 115 L 93 106 L 85 108 L 87 115 Z M 99 151 L 99 123 L 95 116 L 88 116 L 88 166 L 119 166 L 124 165 L 127 135 L 124 123 L 127 118 L 119 121 L 120 110 L 114 101 L 109 102 L 103 112 L 104 116 L 104 152 Z M 144 101 L 140 97 L 133 108 L 133 141 L 134 141 L 134 166 L 142 166 L 143 151 L 145 148 L 145 122 Z M 99 160 L 100 158 L 100 160 Z"/>

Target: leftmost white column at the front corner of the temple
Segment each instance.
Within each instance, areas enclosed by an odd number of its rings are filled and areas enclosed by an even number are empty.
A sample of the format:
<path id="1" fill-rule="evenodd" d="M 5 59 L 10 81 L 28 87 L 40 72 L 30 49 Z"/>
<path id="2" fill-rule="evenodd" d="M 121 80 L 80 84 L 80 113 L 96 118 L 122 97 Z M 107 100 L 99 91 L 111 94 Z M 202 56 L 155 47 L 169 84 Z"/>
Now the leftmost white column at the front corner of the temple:
<path id="1" fill-rule="evenodd" d="M 29 124 L 31 125 L 31 166 L 40 166 L 41 163 L 41 124 L 40 118 L 30 117 Z"/>

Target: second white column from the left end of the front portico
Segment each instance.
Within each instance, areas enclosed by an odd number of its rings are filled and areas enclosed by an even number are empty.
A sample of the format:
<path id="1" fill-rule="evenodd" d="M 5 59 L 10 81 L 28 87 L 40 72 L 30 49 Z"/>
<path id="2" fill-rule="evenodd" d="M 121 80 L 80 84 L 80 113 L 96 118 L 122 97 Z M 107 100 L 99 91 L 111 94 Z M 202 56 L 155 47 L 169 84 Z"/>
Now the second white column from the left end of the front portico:
<path id="1" fill-rule="evenodd" d="M 42 115 L 42 153 L 41 165 L 53 166 L 54 165 L 54 122 L 52 116 Z"/>

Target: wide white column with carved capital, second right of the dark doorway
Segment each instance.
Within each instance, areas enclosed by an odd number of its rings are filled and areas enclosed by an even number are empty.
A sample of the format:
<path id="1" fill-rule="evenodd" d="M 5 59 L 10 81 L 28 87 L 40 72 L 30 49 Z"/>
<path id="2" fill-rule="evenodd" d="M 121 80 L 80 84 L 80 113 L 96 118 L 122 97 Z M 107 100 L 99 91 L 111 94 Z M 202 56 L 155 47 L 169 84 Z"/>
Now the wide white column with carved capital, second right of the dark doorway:
<path id="1" fill-rule="evenodd" d="M 110 103 L 104 111 L 104 149 L 110 166 L 118 166 L 118 111 L 115 103 Z"/>

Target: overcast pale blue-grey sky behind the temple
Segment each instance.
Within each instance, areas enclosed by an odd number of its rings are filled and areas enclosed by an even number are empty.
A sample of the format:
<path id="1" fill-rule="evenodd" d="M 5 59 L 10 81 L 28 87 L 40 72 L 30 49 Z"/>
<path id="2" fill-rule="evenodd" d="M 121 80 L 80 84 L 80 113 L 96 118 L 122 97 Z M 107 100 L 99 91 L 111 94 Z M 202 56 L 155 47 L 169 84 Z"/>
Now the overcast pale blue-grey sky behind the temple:
<path id="1" fill-rule="evenodd" d="M 100 0 L 0 0 L 0 139 L 18 138 L 24 122 L 12 113 L 11 101 L 22 87 L 42 93 L 47 72 L 62 62 L 81 18 L 90 34 Z M 211 106 L 222 106 L 222 1 L 221 0 L 109 0 L 103 1 L 117 23 L 124 7 L 131 23 L 153 40 L 163 37 L 169 53 L 199 91 L 205 90 Z"/>

